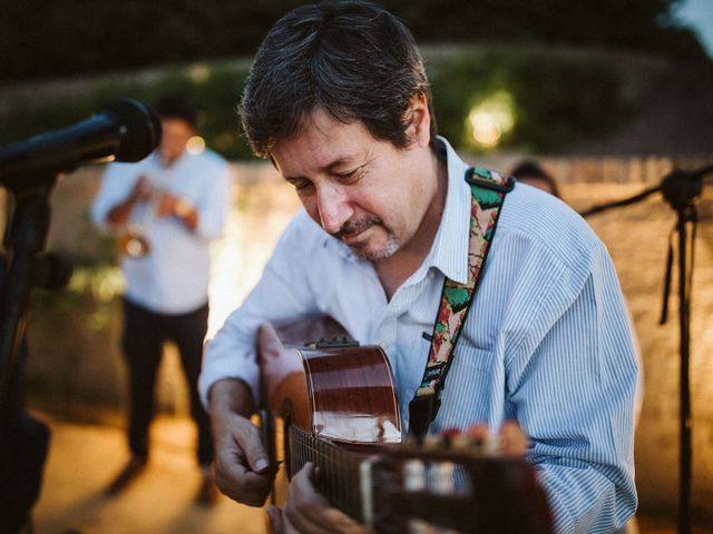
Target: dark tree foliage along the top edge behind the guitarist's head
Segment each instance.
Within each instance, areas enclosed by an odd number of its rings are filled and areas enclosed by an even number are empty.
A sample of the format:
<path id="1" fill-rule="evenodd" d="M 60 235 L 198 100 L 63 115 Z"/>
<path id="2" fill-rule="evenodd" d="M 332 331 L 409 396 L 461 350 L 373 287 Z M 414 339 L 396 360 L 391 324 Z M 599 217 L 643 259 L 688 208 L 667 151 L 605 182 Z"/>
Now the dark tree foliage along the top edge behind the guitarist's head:
<path id="1" fill-rule="evenodd" d="M 2 0 L 2 79 L 252 56 L 296 0 Z M 383 0 L 418 40 L 541 41 L 703 58 L 681 0 Z"/>

